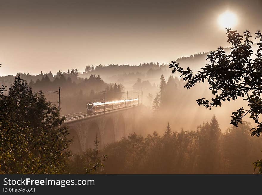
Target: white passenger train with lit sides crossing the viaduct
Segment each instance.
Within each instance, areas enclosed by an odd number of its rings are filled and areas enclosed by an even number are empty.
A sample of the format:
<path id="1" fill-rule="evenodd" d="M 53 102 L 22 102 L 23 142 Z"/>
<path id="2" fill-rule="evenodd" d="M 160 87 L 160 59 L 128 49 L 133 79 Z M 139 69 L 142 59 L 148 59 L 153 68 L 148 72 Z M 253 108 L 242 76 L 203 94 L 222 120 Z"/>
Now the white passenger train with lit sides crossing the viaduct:
<path id="1" fill-rule="evenodd" d="M 127 106 L 134 106 L 138 104 L 138 98 L 136 99 L 124 99 L 112 102 L 90 102 L 86 105 L 86 112 L 88 114 L 104 112 L 104 110 L 113 110 L 117 108 L 123 108 Z M 105 107 L 105 108 L 104 108 Z"/>

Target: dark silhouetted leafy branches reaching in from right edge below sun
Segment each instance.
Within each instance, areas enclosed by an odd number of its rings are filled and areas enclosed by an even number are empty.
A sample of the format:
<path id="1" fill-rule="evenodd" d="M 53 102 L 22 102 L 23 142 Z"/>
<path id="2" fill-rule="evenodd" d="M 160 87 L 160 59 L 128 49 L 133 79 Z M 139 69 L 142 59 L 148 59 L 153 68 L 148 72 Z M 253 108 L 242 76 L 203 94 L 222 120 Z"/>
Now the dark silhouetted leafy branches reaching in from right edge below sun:
<path id="1" fill-rule="evenodd" d="M 256 128 L 252 128 L 251 136 L 260 136 L 262 132 L 262 122 L 259 122 L 259 115 L 262 114 L 261 84 L 262 84 L 262 34 L 260 31 L 255 33 L 258 39 L 258 50 L 252 58 L 252 44 L 249 31 L 245 31 L 242 36 L 236 30 L 227 29 L 228 42 L 232 45 L 230 54 L 226 54 L 222 47 L 216 51 L 211 51 L 207 56 L 210 64 L 201 68 L 202 71 L 193 75 L 188 67 L 184 70 L 179 67 L 179 63 L 172 61 L 169 65 L 173 68 L 172 73 L 180 72 L 183 80 L 187 81 L 187 89 L 193 87 L 197 82 L 207 81 L 210 85 L 214 98 L 207 100 L 201 98 L 197 100 L 198 105 L 203 105 L 211 110 L 212 107 L 222 105 L 222 101 L 235 100 L 244 97 L 250 109 L 243 107 L 233 112 L 231 123 L 238 127 L 242 124 L 242 118 L 249 113 L 255 123 Z M 261 165 L 261 160 L 255 163 L 255 167 Z"/>

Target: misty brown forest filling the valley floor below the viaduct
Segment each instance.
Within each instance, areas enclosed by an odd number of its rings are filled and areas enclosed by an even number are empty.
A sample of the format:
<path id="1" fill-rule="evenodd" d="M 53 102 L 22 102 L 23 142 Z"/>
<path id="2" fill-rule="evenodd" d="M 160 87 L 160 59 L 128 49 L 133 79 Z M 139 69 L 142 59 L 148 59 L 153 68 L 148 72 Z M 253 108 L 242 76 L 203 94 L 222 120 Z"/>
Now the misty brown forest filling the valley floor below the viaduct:
<path id="1" fill-rule="evenodd" d="M 250 124 L 243 122 L 222 133 L 213 116 L 195 131 L 172 132 L 167 124 L 162 136 L 156 131 L 145 138 L 133 133 L 99 152 L 108 159 L 98 173 L 252 174 L 252 162 L 260 156 L 255 148 L 262 140 L 251 138 L 249 128 Z M 90 152 L 73 155 L 69 171 L 85 173 L 84 165 L 90 160 Z"/>

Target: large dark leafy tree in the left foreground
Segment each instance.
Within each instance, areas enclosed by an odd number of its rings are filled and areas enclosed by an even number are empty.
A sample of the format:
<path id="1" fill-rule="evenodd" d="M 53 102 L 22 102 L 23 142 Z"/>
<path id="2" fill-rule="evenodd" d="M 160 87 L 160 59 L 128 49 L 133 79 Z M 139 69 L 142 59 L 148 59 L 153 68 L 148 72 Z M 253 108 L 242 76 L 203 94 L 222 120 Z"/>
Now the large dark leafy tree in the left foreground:
<path id="1" fill-rule="evenodd" d="M 43 92 L 33 93 L 26 81 L 15 78 L 4 94 L 0 90 L 1 173 L 63 173 L 70 140 L 61 126 L 58 108 Z"/>

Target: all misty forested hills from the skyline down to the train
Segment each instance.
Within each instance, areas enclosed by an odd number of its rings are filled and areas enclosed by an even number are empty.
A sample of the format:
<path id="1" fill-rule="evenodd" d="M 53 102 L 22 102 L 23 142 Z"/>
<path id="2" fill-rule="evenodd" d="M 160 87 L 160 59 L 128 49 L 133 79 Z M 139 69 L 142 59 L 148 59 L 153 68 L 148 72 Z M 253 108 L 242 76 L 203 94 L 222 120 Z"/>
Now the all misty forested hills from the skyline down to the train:
<path id="1" fill-rule="evenodd" d="M 190 67 L 195 71 L 206 64 L 207 54 L 206 52 L 181 57 L 177 59 L 177 62 L 183 68 Z M 61 112 L 68 114 L 85 110 L 85 105 L 88 102 L 100 101 L 101 98 L 98 94 L 95 94 L 95 91 L 104 90 L 105 88 L 111 89 L 111 91 L 123 91 L 124 89 L 134 91 L 143 88 L 144 94 L 152 93 L 155 96 L 160 83 L 159 78 L 162 74 L 166 79 L 169 78 L 171 75 L 169 64 L 150 62 L 139 65 L 88 65 L 85 67 L 85 72 L 82 73 L 77 68 L 70 68 L 67 71 L 59 70 L 55 74 L 52 72 L 42 73 L 42 71 L 38 75 L 17 73 L 15 76 L 0 77 L 0 84 L 9 87 L 15 77 L 20 75 L 22 79 L 29 83 L 33 91 L 42 90 L 51 102 L 56 102 L 57 97 L 53 93 L 47 93 L 47 91 L 57 91 L 61 87 Z M 146 83 L 146 86 L 135 85 L 138 78 L 141 83 Z M 81 98 L 81 100 L 76 97 Z M 146 96 L 143 98 L 146 101 Z M 72 104 L 72 102 L 81 102 L 81 104 L 74 106 L 75 103 Z"/>

